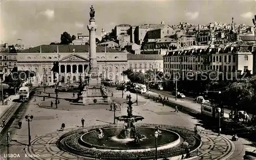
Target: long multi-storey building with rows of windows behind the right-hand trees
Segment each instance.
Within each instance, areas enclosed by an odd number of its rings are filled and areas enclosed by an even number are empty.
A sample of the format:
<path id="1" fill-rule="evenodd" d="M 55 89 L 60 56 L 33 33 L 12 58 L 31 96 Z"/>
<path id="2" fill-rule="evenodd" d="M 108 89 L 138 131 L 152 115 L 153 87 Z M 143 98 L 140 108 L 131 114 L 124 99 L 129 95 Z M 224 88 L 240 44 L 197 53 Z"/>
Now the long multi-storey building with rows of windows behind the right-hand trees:
<path id="1" fill-rule="evenodd" d="M 170 76 L 175 72 L 215 70 L 235 75 L 253 70 L 252 50 L 248 45 L 229 45 L 226 47 L 190 46 L 168 51 L 164 56 L 164 73 Z M 252 73 L 252 72 L 251 72 Z"/>

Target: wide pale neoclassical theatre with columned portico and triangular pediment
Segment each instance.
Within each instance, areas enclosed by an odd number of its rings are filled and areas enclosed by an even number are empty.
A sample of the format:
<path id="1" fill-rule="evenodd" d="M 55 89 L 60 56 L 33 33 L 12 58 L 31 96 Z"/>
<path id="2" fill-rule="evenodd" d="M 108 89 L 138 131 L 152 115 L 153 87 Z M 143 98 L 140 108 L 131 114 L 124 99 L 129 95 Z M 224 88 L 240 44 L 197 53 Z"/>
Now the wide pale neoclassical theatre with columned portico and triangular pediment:
<path id="1" fill-rule="evenodd" d="M 126 52 L 97 46 L 98 70 L 102 79 L 113 82 L 127 81 L 122 71 L 127 69 Z M 58 66 L 56 66 L 58 62 Z M 77 83 L 84 81 L 89 71 L 89 45 L 40 45 L 17 53 L 17 69 L 36 72 L 33 85 L 55 82 Z M 54 72 L 54 68 L 58 71 Z"/>

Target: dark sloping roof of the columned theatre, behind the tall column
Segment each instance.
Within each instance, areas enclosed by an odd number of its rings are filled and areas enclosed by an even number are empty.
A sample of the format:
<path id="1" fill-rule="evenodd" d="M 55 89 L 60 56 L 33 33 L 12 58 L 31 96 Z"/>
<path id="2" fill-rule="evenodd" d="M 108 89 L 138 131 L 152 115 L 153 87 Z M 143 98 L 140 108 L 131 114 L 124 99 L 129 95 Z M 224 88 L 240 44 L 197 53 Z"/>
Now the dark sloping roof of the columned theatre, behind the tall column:
<path id="1" fill-rule="evenodd" d="M 58 49 L 57 49 L 58 46 Z M 83 52 L 89 52 L 89 44 L 86 45 L 65 45 L 65 44 L 52 44 L 52 45 L 39 45 L 30 49 L 23 50 L 23 53 L 53 53 L 57 52 L 57 50 L 60 53 L 72 53 L 73 49 L 75 49 L 75 52 L 77 53 L 83 53 Z M 97 45 L 96 46 L 96 52 L 105 52 L 105 47 Z M 106 52 L 121 52 L 116 49 L 106 48 Z"/>

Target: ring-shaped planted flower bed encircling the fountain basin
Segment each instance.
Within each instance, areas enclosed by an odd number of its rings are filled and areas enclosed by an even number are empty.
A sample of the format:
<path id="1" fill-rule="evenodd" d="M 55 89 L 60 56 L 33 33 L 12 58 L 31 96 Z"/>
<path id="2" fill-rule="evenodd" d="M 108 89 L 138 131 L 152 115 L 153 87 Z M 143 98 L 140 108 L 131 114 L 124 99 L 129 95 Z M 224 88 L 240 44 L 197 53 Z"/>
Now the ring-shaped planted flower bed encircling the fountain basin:
<path id="1" fill-rule="evenodd" d="M 98 125 L 98 126 L 90 126 L 85 128 L 80 128 L 76 130 L 72 130 L 62 135 L 60 139 L 57 141 L 57 146 L 65 150 L 67 152 L 71 152 L 84 157 L 91 158 L 99 158 L 101 159 L 153 159 L 155 158 L 155 150 L 144 151 L 144 152 L 126 152 L 126 151 L 106 151 L 106 150 L 98 150 L 96 148 L 87 148 L 81 146 L 78 141 L 80 141 L 80 136 L 85 132 L 95 130 L 96 128 L 108 128 L 108 127 L 116 127 L 119 125 Z M 121 126 L 121 125 L 120 125 Z M 186 128 L 176 127 L 171 125 L 159 125 L 159 124 L 136 124 L 136 126 L 141 127 L 155 127 L 167 129 L 176 132 L 180 135 L 187 143 L 188 149 L 190 151 L 194 151 L 201 145 L 201 137 L 197 134 L 195 135 L 194 131 L 190 131 Z M 168 158 L 174 156 L 180 156 L 182 154 L 186 154 L 184 147 L 181 145 L 158 150 L 157 152 L 158 158 Z"/>

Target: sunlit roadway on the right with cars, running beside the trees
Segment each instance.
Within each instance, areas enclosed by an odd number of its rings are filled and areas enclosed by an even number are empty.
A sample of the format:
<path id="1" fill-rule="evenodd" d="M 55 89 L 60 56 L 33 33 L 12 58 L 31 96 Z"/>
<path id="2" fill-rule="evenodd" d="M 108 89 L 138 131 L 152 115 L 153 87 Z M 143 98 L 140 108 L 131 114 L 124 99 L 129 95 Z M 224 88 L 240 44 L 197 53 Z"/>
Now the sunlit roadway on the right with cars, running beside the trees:
<path id="1" fill-rule="evenodd" d="M 161 96 L 169 97 L 169 100 L 172 100 L 174 103 L 177 102 L 180 105 L 187 106 L 188 108 L 201 113 L 201 104 L 200 103 L 195 103 L 194 98 L 191 98 L 191 97 L 186 97 L 186 98 L 183 98 L 183 99 L 177 98 L 177 101 L 176 101 L 175 96 L 172 95 L 171 92 L 163 91 L 163 90 L 156 90 L 156 89 L 151 89 L 150 90 L 150 95 L 151 96 L 158 97 L 159 93 L 161 94 Z M 228 114 L 230 112 L 231 112 L 230 110 L 224 109 L 224 117 L 228 118 Z"/>

